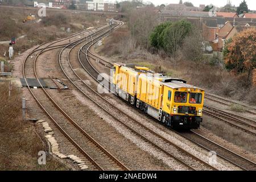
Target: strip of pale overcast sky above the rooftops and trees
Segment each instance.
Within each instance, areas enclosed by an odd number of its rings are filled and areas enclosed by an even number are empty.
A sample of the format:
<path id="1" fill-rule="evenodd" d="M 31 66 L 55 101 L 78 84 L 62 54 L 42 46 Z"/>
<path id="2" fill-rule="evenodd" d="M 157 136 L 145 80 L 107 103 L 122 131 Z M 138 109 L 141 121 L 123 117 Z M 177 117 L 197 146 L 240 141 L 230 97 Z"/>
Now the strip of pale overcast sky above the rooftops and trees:
<path id="1" fill-rule="evenodd" d="M 170 4 L 170 3 L 179 3 L 180 0 L 143 0 L 144 2 L 150 1 L 154 5 L 161 5 L 161 4 Z M 183 2 L 189 1 L 189 0 L 183 0 Z M 190 2 L 193 3 L 194 6 L 199 5 L 209 5 L 213 4 L 214 6 L 225 6 L 227 0 L 190 0 Z M 242 0 L 231 0 L 232 5 L 239 6 Z M 256 10 L 256 1 L 255 0 L 247 0 L 247 5 L 250 10 Z"/>

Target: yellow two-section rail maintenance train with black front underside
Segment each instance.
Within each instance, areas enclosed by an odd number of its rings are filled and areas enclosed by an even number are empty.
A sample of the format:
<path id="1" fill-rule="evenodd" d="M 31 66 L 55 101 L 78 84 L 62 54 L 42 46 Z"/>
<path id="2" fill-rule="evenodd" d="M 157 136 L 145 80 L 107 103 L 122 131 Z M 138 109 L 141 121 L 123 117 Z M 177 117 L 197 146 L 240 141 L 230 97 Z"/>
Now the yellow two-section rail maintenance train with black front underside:
<path id="1" fill-rule="evenodd" d="M 114 64 L 112 92 L 169 127 L 197 129 L 204 90 L 135 64 Z"/>

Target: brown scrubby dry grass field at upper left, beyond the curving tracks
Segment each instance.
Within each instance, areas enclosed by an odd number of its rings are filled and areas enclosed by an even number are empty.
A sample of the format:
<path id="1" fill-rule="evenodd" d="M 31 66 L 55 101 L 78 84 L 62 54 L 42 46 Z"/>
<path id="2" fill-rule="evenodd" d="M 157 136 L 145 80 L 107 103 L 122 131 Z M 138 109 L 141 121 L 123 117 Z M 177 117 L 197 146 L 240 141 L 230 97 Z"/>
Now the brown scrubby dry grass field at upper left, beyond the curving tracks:
<path id="1" fill-rule="evenodd" d="M 102 15 L 75 13 L 75 11 L 63 13 L 62 10 L 47 9 L 47 17 L 43 18 L 42 22 L 28 21 L 22 23 L 22 20 L 27 18 L 30 13 L 36 15 L 36 20 L 39 20 L 37 11 L 38 9 L 27 9 L 26 7 L 9 8 L 0 6 L 0 41 L 10 40 L 13 36 L 18 38 L 21 35 L 27 35 L 26 38 L 16 40 L 14 45 L 15 55 L 19 51 L 23 52 L 32 46 L 68 36 L 69 34 L 61 31 L 60 27 L 69 27 L 72 32 L 77 32 L 82 30 L 82 25 L 85 28 L 100 26 L 106 23 L 106 18 L 108 18 Z M 0 44 L 0 56 L 3 56 L 8 47 L 8 44 Z"/>

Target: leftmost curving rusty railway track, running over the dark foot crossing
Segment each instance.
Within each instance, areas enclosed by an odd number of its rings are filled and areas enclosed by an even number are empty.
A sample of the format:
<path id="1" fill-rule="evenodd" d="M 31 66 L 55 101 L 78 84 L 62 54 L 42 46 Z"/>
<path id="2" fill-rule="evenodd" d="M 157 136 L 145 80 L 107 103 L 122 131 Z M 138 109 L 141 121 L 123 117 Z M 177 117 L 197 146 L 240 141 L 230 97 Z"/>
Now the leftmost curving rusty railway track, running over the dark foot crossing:
<path id="1" fill-rule="evenodd" d="M 60 40 L 63 42 L 66 39 Z M 82 38 L 84 40 L 85 38 Z M 73 43 L 76 43 L 79 40 L 75 40 Z M 28 85 L 27 82 L 27 75 L 28 72 L 31 76 L 31 65 L 32 72 L 34 73 L 34 77 L 38 80 L 39 84 L 42 86 L 42 84 L 39 81 L 38 73 L 36 72 L 36 61 L 38 60 L 39 55 L 46 51 L 51 51 L 52 49 L 59 48 L 60 46 L 52 46 L 55 44 L 55 42 L 50 43 L 44 48 L 40 48 L 43 45 L 46 45 L 47 43 L 36 47 L 33 51 L 30 52 L 30 54 L 27 55 L 27 57 L 24 59 L 23 62 L 23 77 Z M 65 47 L 69 47 L 73 45 L 73 43 L 67 44 Z M 30 55 L 36 54 L 35 59 L 33 60 Z M 28 66 L 28 68 L 26 67 Z M 26 67 L 26 68 L 25 68 Z M 64 137 L 72 143 L 73 147 L 76 148 L 80 152 L 80 155 L 82 155 L 82 160 L 88 164 L 91 169 L 99 169 L 99 170 L 116 170 L 116 169 L 122 169 L 122 170 L 129 170 L 125 165 L 123 165 L 119 160 L 117 160 L 110 152 L 108 152 L 104 147 L 100 145 L 100 143 L 96 142 L 86 131 L 84 131 L 63 109 L 61 109 L 61 106 L 58 105 L 53 98 L 48 94 L 47 90 L 43 88 L 42 89 L 36 89 L 32 90 L 28 86 L 28 90 L 32 94 L 32 96 L 35 98 L 38 105 L 42 108 L 42 110 L 48 115 L 48 117 L 52 120 L 54 125 L 57 127 L 57 129 L 64 135 Z M 74 150 L 74 149 L 73 149 Z"/>

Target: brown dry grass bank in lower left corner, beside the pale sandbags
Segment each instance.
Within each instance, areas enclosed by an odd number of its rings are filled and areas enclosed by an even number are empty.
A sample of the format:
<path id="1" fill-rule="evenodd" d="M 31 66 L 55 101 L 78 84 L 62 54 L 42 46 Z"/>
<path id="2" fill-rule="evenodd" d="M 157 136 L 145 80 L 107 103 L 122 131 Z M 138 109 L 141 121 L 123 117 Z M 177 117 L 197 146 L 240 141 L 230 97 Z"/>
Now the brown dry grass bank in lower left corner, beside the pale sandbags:
<path id="1" fill-rule="evenodd" d="M 38 152 L 45 150 L 35 133 L 34 125 L 23 121 L 20 90 L 12 85 L 0 83 L 0 170 L 53 170 L 65 169 L 48 159 L 39 165 Z"/>

